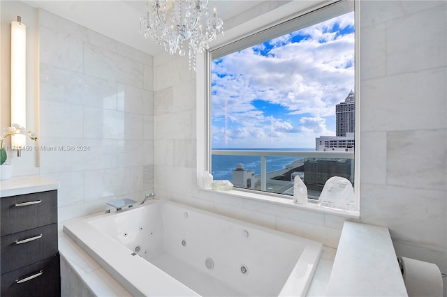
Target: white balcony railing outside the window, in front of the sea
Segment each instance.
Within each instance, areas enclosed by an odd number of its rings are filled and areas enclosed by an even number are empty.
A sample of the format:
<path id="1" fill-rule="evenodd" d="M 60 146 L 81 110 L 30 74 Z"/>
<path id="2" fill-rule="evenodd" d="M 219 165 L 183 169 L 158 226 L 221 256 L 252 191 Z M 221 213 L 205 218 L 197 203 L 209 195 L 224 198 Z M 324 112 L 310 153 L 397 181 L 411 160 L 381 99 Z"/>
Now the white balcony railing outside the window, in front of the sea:
<path id="1" fill-rule="evenodd" d="M 263 151 L 263 150 L 221 150 L 213 149 L 212 155 L 233 155 L 233 156 L 258 156 L 261 158 L 261 186 L 259 190 L 268 191 L 269 172 L 267 172 L 268 157 L 282 158 L 302 158 L 304 160 L 353 160 L 353 151 Z M 347 177 L 353 183 L 353 163 L 351 162 L 351 174 Z M 309 173 L 310 174 L 310 173 Z M 271 174 L 270 174 L 271 175 Z M 271 176 L 270 176 L 271 177 Z M 309 195 L 310 197 L 311 195 Z M 312 198 L 318 198 L 312 197 Z"/>

